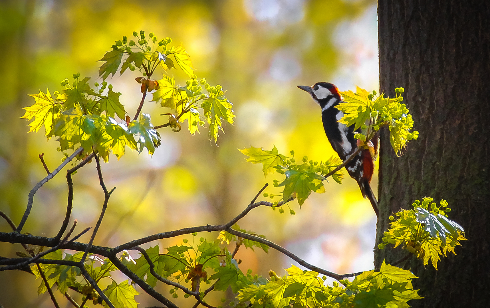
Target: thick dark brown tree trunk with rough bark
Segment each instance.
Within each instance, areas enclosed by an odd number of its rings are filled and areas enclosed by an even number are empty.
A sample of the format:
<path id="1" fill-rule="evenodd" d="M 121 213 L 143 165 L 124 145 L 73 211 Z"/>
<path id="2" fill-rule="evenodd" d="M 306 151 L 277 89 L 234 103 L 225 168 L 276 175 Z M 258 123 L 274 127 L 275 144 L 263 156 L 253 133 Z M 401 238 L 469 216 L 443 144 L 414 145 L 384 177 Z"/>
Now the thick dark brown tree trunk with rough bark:
<path id="1" fill-rule="evenodd" d="M 490 1 L 379 0 L 378 20 L 380 90 L 393 97 L 405 88 L 420 135 L 398 158 L 382 133 L 376 245 L 393 212 L 425 196 L 446 199 L 468 241 L 438 271 L 416 258 L 398 265 L 419 277 L 425 297 L 409 304 L 489 307 Z M 375 265 L 407 253 L 376 247 Z"/>

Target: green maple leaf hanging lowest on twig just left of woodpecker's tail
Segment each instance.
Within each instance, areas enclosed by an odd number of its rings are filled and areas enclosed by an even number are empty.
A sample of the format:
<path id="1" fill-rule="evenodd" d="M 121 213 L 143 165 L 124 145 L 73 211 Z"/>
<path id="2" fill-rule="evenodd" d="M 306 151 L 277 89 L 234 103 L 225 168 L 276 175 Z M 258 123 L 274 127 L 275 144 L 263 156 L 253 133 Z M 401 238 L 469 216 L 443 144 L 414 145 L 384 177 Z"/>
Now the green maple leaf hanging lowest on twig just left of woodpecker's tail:
<path id="1" fill-rule="evenodd" d="M 286 170 L 286 179 L 278 185 L 284 186 L 282 199 L 288 200 L 295 192 L 299 206 L 303 205 L 312 191 L 321 191 L 324 180 L 321 175 L 303 166 L 298 166 L 298 170 Z"/>

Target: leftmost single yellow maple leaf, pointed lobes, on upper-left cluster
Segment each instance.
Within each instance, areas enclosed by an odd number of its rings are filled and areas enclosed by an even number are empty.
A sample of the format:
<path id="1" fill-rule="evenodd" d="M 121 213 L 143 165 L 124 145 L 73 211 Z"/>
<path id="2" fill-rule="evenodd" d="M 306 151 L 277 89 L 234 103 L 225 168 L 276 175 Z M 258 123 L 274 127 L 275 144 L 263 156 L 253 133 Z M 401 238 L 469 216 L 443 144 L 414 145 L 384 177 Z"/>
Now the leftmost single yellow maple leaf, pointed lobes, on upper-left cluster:
<path id="1" fill-rule="evenodd" d="M 56 103 L 49 90 L 46 94 L 39 91 L 39 94 L 31 94 L 29 96 L 34 97 L 35 103 L 30 107 L 25 107 L 25 114 L 21 118 L 26 118 L 28 120 L 34 118 L 32 122 L 29 123 L 29 132 L 38 132 L 41 127 L 46 129 L 46 137 L 52 136 L 52 131 L 54 129 L 55 123 L 60 116 L 61 103 Z"/>

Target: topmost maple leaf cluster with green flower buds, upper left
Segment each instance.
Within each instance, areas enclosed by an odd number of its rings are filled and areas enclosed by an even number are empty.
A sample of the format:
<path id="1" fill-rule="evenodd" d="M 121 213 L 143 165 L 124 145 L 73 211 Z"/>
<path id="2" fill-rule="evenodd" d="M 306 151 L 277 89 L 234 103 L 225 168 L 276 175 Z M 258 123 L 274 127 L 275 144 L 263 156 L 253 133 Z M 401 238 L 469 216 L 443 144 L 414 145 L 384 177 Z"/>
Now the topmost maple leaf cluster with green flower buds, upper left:
<path id="1" fill-rule="evenodd" d="M 137 42 L 128 41 L 123 36 L 123 40 L 116 41 L 112 45 L 113 50 L 99 60 L 105 61 L 100 66 L 99 76 L 105 80 L 109 74 L 114 75 L 118 70 L 120 74 L 127 69 L 141 71 L 148 78 L 140 79 L 141 92 L 155 90 L 152 101 L 160 102 L 161 107 L 172 109 L 166 126 L 178 132 L 181 129 L 180 122 L 187 120 L 189 131 L 194 135 L 199 132 L 199 126 L 204 126 L 207 122 L 209 139 L 216 142 L 219 130 L 223 130 L 223 123 L 233 124 L 235 117 L 233 105 L 224 96 L 225 91 L 221 85 L 212 86 L 204 78 L 198 81 L 189 54 L 182 46 L 171 47 L 169 44 L 172 38 L 158 40 L 153 33 L 146 37 L 143 30 L 140 33 L 133 32 L 133 36 Z M 178 67 L 190 79 L 185 86 L 176 85 L 174 77 L 167 74 L 160 80 L 150 80 L 157 67 L 165 72 Z M 199 109 L 202 110 L 199 112 Z"/>

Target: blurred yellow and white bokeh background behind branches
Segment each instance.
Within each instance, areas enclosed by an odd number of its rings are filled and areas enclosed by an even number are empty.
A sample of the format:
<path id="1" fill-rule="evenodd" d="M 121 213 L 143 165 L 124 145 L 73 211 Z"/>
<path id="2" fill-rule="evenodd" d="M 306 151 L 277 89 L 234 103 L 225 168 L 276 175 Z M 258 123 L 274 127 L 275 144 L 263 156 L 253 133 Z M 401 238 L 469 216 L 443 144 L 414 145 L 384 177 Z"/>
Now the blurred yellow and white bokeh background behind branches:
<path id="1" fill-rule="evenodd" d="M 132 152 L 118 161 L 111 156 L 102 169 L 107 186 L 117 190 L 96 237 L 98 245 L 225 223 L 240 213 L 266 182 L 272 184 L 274 175 L 264 178 L 261 166 L 245 163 L 238 148 L 269 150 L 275 145 L 280 153 L 294 149 L 296 157 L 318 161 L 335 155 L 324 135 L 318 105 L 296 85 L 329 81 L 342 91 L 355 85 L 368 91 L 379 88 L 374 0 L 3 0 L 0 210 L 15 223 L 25 211 L 28 191 L 45 176 L 38 154 L 44 153 L 51 170 L 63 158 L 55 140 L 47 142 L 41 132 L 27 134 L 28 121 L 20 118 L 22 108 L 34 103 L 27 94 L 60 90 L 60 81 L 75 72 L 96 81 L 101 64 L 96 61 L 114 41 L 139 30 L 182 43 L 197 77 L 228 91 L 237 118 L 235 125 L 224 127 L 218 146 L 208 140 L 205 130 L 192 136 L 186 129 L 179 133 L 160 129 L 162 144 L 152 157 Z M 117 75 L 108 82 L 123 93 L 126 111 L 134 114 L 141 99 L 137 75 L 129 71 Z M 185 84 L 183 74 L 175 77 Z M 161 72 L 154 78 L 160 79 Z M 154 125 L 166 122 L 159 115 L 168 111 L 152 102 L 147 101 L 143 111 L 152 116 Z M 78 220 L 79 230 L 95 225 L 103 200 L 92 165 L 73 177 L 72 218 Z M 376 176 L 372 186 L 376 191 Z M 62 171 L 35 195 L 23 232 L 55 235 L 65 215 L 66 197 Z M 372 268 L 375 215 L 354 180 L 347 176 L 343 185 L 330 181 L 325 193 L 312 194 L 301 209 L 296 202 L 289 206 L 296 215 L 287 208 L 284 214 L 258 208 L 240 225 L 330 271 Z M 3 220 L 0 230 L 10 231 Z M 201 236 L 212 239 L 217 234 Z M 88 239 L 88 235 L 80 238 Z M 20 244 L 0 243 L 1 256 L 14 257 L 21 250 Z M 244 271 L 251 268 L 264 276 L 270 269 L 284 275 L 281 268 L 291 266 L 289 258 L 273 250 L 266 254 L 241 248 L 237 258 L 243 260 Z M 5 308 L 52 307 L 47 293 L 37 295 L 39 284 L 25 272 L 1 272 L 0 303 Z M 157 286 L 170 295 L 165 289 Z M 218 301 L 223 294 L 214 296 Z M 177 304 L 187 307 L 181 297 Z M 136 300 L 140 307 L 156 304 L 146 294 Z"/>

